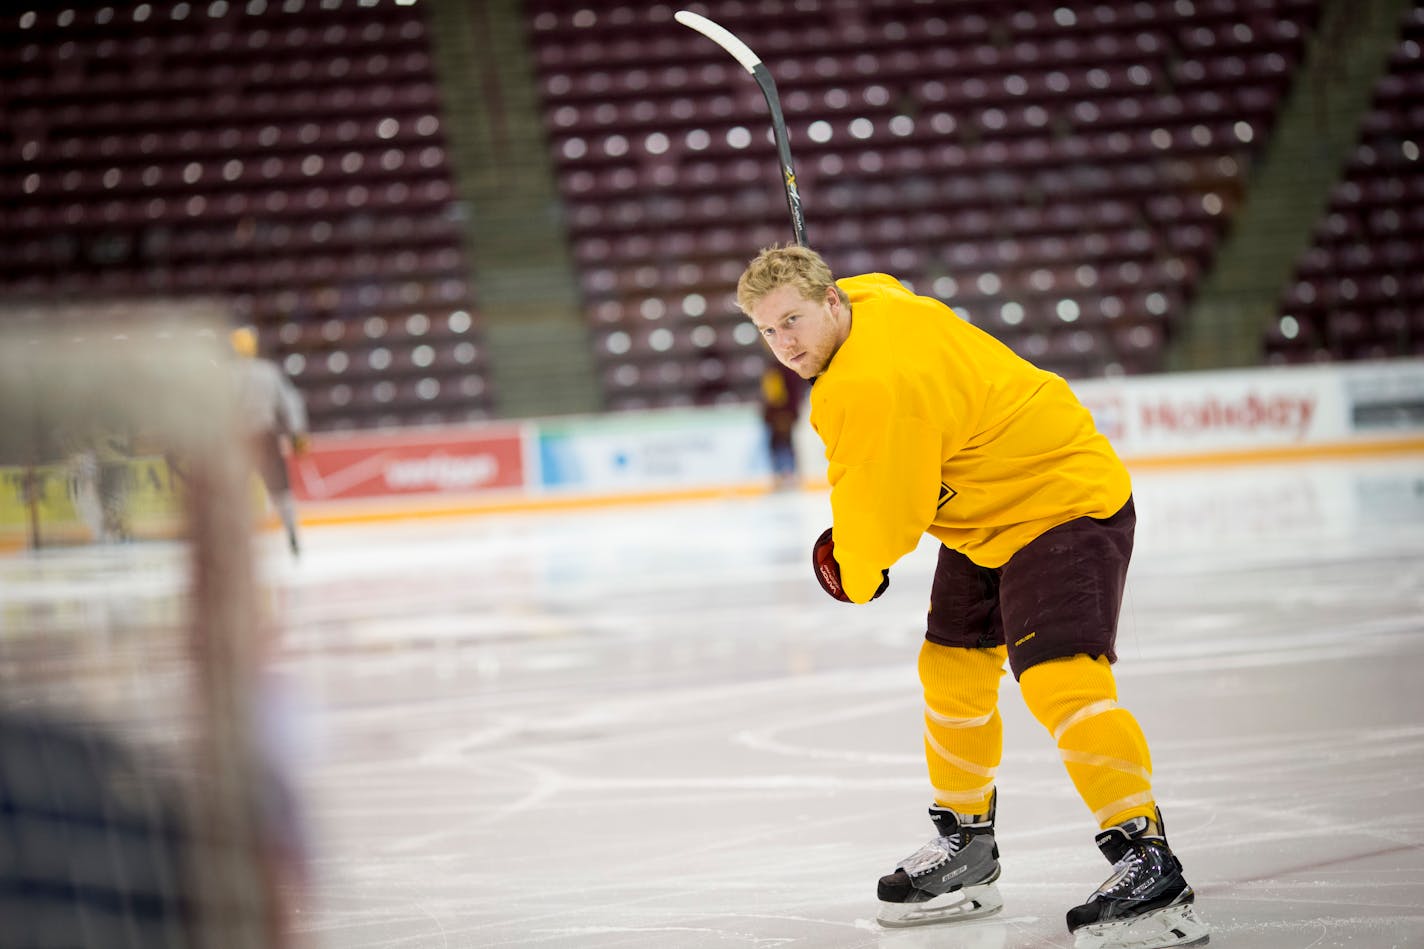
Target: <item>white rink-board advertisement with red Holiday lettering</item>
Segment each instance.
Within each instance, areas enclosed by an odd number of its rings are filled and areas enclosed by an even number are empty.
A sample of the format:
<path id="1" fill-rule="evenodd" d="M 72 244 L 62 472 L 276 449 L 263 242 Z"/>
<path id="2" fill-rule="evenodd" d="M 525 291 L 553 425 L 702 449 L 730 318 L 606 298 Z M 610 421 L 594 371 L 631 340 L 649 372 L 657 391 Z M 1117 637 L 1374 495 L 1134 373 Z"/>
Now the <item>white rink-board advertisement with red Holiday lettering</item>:
<path id="1" fill-rule="evenodd" d="M 1121 455 L 1190 455 L 1349 437 L 1340 373 L 1203 372 L 1077 386 Z"/>

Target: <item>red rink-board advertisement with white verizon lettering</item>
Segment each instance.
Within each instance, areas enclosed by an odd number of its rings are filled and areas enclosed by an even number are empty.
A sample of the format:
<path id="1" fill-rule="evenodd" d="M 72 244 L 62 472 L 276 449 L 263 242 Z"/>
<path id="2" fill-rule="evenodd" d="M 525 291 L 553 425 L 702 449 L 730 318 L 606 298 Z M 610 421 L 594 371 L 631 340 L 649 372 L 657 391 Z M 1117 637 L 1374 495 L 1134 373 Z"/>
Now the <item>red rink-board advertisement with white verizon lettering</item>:
<path id="1" fill-rule="evenodd" d="M 518 426 L 322 439 L 293 459 L 300 500 L 476 494 L 524 487 Z"/>

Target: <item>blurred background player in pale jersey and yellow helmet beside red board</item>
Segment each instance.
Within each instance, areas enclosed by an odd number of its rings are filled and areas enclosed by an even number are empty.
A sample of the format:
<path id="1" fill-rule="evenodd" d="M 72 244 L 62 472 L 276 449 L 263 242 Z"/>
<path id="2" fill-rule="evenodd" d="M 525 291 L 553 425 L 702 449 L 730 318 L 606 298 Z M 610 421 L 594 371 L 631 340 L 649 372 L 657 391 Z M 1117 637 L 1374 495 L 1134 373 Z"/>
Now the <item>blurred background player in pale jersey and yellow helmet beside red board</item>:
<path id="1" fill-rule="evenodd" d="M 296 554 L 296 503 L 292 480 L 282 455 L 282 439 L 288 439 L 293 455 L 306 450 L 310 435 L 306 423 L 306 403 L 302 393 L 282 369 L 258 356 L 258 333 L 252 326 L 232 331 L 232 351 L 238 355 L 238 412 L 251 442 L 252 456 L 266 486 L 268 497 L 282 517 L 286 540 Z"/>

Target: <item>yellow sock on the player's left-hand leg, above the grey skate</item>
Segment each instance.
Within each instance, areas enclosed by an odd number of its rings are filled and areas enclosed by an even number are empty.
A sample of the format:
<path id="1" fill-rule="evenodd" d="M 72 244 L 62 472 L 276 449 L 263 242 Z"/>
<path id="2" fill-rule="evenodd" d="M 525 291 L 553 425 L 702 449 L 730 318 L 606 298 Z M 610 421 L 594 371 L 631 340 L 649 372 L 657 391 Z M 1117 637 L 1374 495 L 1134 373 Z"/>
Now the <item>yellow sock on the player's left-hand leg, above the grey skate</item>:
<path id="1" fill-rule="evenodd" d="M 1002 645 L 957 648 L 926 640 L 920 648 L 924 758 L 940 807 L 988 812 L 1004 750 L 998 681 L 1007 655 Z"/>

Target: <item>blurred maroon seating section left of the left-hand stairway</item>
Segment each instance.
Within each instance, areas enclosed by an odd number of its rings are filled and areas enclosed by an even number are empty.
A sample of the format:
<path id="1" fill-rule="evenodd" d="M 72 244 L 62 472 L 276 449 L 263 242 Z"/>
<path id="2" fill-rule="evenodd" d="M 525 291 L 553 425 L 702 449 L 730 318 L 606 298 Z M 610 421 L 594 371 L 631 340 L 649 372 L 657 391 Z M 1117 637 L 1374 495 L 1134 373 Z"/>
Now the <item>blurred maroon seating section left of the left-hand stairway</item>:
<path id="1" fill-rule="evenodd" d="M 0 23 L 0 292 L 228 299 L 318 429 L 490 413 L 419 6 L 34 4 Z"/>

